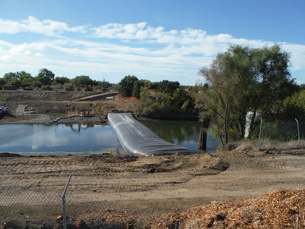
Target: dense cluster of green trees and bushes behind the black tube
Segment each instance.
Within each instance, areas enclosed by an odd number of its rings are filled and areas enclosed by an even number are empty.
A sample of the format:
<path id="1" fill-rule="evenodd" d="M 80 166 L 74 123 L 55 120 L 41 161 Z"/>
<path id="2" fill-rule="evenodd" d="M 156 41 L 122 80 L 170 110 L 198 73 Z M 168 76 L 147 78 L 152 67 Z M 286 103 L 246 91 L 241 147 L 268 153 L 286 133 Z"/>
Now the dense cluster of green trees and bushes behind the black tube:
<path id="1" fill-rule="evenodd" d="M 123 97 L 139 100 L 137 115 L 148 118 L 168 118 L 179 115 L 196 117 L 195 95 L 185 90 L 178 81 L 151 82 L 134 75 L 125 76 L 118 86 Z M 189 116 L 190 117 L 190 116 Z"/>

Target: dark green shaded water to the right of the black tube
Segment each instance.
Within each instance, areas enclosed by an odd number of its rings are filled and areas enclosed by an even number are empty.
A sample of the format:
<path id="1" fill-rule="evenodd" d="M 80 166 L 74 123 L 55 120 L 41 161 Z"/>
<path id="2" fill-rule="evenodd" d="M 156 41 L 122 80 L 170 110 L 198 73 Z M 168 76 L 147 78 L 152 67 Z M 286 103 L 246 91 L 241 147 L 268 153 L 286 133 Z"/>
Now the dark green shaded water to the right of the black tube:
<path id="1" fill-rule="evenodd" d="M 141 123 L 168 142 L 198 150 L 200 122 L 144 120 Z M 215 151 L 218 146 L 219 142 L 208 133 L 207 151 Z"/>

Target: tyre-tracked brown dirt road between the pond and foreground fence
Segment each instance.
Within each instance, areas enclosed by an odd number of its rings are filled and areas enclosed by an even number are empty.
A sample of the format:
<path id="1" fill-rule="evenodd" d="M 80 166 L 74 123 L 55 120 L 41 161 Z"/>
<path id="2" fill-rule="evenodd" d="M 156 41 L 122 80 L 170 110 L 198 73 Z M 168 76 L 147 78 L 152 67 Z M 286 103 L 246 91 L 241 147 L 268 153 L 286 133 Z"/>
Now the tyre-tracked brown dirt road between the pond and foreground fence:
<path id="1" fill-rule="evenodd" d="M 158 157 L 1 157 L 0 172 L 5 179 L 57 189 L 63 189 L 66 175 L 72 174 L 69 191 L 152 209 L 179 210 L 152 202 L 192 207 L 202 205 L 200 201 L 254 198 L 274 188 L 305 188 L 305 156 L 298 154 L 231 151 Z"/>

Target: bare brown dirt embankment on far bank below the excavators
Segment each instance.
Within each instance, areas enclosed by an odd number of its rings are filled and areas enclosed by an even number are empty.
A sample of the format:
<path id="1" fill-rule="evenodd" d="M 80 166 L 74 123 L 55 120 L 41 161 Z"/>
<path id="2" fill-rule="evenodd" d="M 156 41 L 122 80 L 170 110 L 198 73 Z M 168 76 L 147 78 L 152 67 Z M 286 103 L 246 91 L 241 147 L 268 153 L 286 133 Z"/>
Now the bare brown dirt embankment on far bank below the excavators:
<path id="1" fill-rule="evenodd" d="M 0 106 L 8 107 L 6 118 L 1 122 L 35 119 L 41 115 L 77 116 L 81 111 L 90 111 L 105 119 L 110 110 L 135 110 L 133 100 L 118 100 L 116 95 L 117 92 L 96 91 L 0 91 Z M 114 99 L 106 99 L 110 96 Z"/>

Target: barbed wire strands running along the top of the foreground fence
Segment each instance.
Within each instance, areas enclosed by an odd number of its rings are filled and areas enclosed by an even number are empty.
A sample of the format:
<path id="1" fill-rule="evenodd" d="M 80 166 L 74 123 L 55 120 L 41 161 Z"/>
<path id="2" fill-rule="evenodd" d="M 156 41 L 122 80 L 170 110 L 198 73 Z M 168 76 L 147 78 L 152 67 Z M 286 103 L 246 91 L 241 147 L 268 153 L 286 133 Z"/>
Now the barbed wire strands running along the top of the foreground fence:
<path id="1" fill-rule="evenodd" d="M 0 166 L 7 166 L 7 165 L 0 165 Z M 12 166 L 7 166 L 7 167 L 16 168 L 16 167 L 12 167 Z M 24 170 L 26 170 L 26 169 L 24 169 Z M 33 171 L 33 170 L 32 170 L 32 171 Z M 38 172 L 38 173 L 41 173 L 41 171 L 39 171 L 39 170 L 34 170 L 34 171 L 35 171 L 35 172 Z M 0 173 L 3 173 L 3 172 L 0 172 Z M 56 175 L 56 176 L 65 176 L 65 177 L 69 177 L 69 175 L 64 175 L 64 174 L 56 174 L 56 173 L 52 173 L 52 174 L 54 174 L 54 175 Z M 10 174 L 10 175 L 15 175 L 15 174 Z M 15 175 L 15 176 L 21 176 L 21 175 Z M 22 176 L 22 177 L 31 178 L 31 179 L 37 179 L 37 180 L 45 180 L 45 181 L 54 182 L 54 183 L 59 183 L 59 184 L 66 184 L 66 183 L 63 183 L 63 182 L 50 181 L 50 180 L 46 180 L 46 179 L 39 179 L 39 178 L 33 178 L 33 177 L 27 177 L 27 176 Z M 122 186 L 122 185 L 118 185 L 118 184 L 109 184 L 109 183 L 106 183 L 106 182 L 96 181 L 96 180 L 90 180 L 90 179 L 85 179 L 85 178 L 77 177 L 77 176 L 71 176 L 71 177 L 74 177 L 74 178 L 77 178 L 77 179 L 81 179 L 81 180 L 86 180 L 86 181 L 92 181 L 92 182 L 96 182 L 96 183 L 100 183 L 100 184 L 106 184 L 106 185 L 110 185 L 110 186 L 116 186 L 116 187 L 121 187 L 121 188 L 136 190 L 136 191 L 144 191 L 144 192 L 147 192 L 147 193 L 149 193 L 149 194 L 153 193 L 153 194 L 159 194 L 159 195 L 164 195 L 164 196 L 169 196 L 169 197 L 174 197 L 174 198 L 181 198 L 181 199 L 186 199 L 186 200 L 191 200 L 191 201 L 203 202 L 203 203 L 207 203 L 207 204 L 215 204 L 215 205 L 220 205 L 220 206 L 226 206 L 226 207 L 230 207 L 230 208 L 238 208 L 238 209 L 243 209 L 243 210 L 250 210 L 250 211 L 255 211 L 255 212 L 276 214 L 276 215 L 289 216 L 289 217 L 295 217 L 295 218 L 297 217 L 297 216 L 295 216 L 295 215 L 289 215 L 289 214 L 283 214 L 283 213 L 274 213 L 274 212 L 264 211 L 264 210 L 259 210 L 259 209 L 250 209 L 250 208 L 245 208 L 245 207 L 226 205 L 226 204 L 223 204 L 223 203 L 209 202 L 209 201 L 204 201 L 204 200 L 197 200 L 197 199 L 192 199 L 192 198 L 174 196 L 174 195 L 170 195 L 170 194 L 163 194 L 163 193 L 158 193 L 158 192 L 153 192 L 153 191 L 147 191 L 147 190 L 138 189 L 138 188 L 126 187 L 126 186 Z M 77 185 L 74 185 L 74 184 L 70 184 L 70 185 L 77 186 Z M 84 188 L 84 189 L 92 189 L 92 190 L 95 190 L 95 189 L 93 189 L 93 188 L 87 188 L 87 187 L 82 187 L 82 186 L 77 186 L 77 187 L 81 187 L 81 188 Z M 99 192 L 104 192 L 104 193 L 108 193 L 108 194 L 117 195 L 117 194 L 110 193 L 110 192 L 105 192 L 105 191 L 99 191 Z M 123 196 L 123 195 L 122 195 L 122 196 Z M 124 196 L 124 197 L 132 198 L 132 197 L 128 197 L 128 196 Z M 152 202 L 152 201 L 145 200 L 145 199 L 139 199 L 139 198 L 136 198 L 136 199 L 137 199 L 137 200 L 147 201 L 147 202 Z M 156 202 L 156 203 L 158 203 L 158 202 Z M 163 203 L 159 203 L 159 204 L 163 204 Z M 165 204 L 165 205 L 167 205 L 167 204 Z M 179 207 L 179 206 L 174 206 L 174 205 L 169 205 L 169 206 L 172 206 L 172 207 Z M 184 207 L 179 207 L 179 208 L 184 208 Z M 188 209 L 188 208 L 186 208 L 186 209 Z"/>

